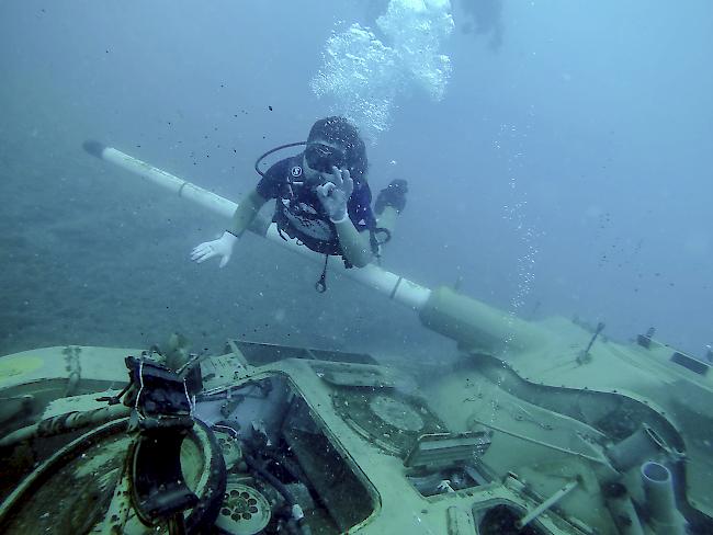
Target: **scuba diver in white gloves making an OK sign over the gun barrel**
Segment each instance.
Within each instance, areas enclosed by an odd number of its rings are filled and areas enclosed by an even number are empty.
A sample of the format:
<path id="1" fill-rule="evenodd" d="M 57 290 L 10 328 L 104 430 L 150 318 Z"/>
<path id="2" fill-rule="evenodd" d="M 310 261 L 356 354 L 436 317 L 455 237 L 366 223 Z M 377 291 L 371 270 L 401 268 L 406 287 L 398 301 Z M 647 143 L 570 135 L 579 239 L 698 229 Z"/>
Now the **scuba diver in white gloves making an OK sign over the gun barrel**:
<path id="1" fill-rule="evenodd" d="M 306 147 L 302 153 L 274 163 L 264 174 L 258 169 L 262 158 L 293 145 Z M 377 226 L 367 167 L 366 147 L 353 124 L 341 116 L 317 121 L 306 143 L 278 147 L 258 159 L 256 170 L 262 179 L 239 203 L 229 228 L 220 238 L 195 247 L 191 259 L 202 263 L 220 257 L 219 266 L 224 268 L 238 238 L 260 208 L 274 198 L 272 220 L 280 236 L 325 254 L 325 269 L 316 284 L 317 291 L 324 292 L 329 257 L 341 257 L 347 268 L 365 266 L 378 257 L 380 246 L 388 241 L 396 216 L 406 206 L 407 183 L 395 180 L 377 196 Z M 384 236 L 381 241 L 380 236 Z"/>

